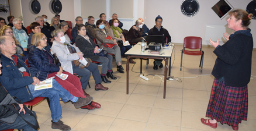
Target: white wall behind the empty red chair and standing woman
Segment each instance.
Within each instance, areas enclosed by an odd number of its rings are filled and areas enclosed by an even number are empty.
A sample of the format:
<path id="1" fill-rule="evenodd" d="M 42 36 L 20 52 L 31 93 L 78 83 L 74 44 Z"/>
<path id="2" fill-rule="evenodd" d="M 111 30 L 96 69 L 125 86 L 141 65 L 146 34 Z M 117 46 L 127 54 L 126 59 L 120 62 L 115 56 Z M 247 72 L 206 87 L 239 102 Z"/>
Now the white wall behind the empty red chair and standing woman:
<path id="1" fill-rule="evenodd" d="M 228 0 L 235 9 L 246 9 L 251 0 Z M 147 0 L 144 1 L 144 23 L 148 28 L 154 26 L 155 17 L 162 16 L 162 26 L 169 31 L 172 37 L 172 43 L 183 43 L 186 36 L 198 36 L 203 38 L 203 44 L 209 44 L 205 40 L 206 25 L 225 25 L 226 19 L 222 20 L 212 10 L 212 6 L 219 0 L 198 0 L 200 9 L 197 15 L 193 17 L 184 16 L 181 13 L 181 1 L 174 0 Z M 251 20 L 249 26 L 252 31 L 252 36 L 256 38 L 256 20 Z M 255 40 L 254 40 L 254 43 Z M 256 48 L 256 44 L 254 44 Z"/>

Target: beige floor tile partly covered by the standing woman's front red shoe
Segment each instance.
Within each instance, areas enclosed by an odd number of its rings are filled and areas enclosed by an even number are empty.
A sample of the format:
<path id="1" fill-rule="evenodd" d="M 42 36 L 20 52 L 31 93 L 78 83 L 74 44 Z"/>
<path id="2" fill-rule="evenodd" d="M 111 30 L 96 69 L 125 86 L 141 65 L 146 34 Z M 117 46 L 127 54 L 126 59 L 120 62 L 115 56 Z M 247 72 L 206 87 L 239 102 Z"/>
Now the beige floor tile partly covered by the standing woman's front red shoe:
<path id="1" fill-rule="evenodd" d="M 202 112 L 195 113 L 182 111 L 181 127 L 199 130 L 215 130 L 210 128 L 210 126 L 203 125 L 200 121 L 201 118 L 205 118 L 205 114 Z"/>

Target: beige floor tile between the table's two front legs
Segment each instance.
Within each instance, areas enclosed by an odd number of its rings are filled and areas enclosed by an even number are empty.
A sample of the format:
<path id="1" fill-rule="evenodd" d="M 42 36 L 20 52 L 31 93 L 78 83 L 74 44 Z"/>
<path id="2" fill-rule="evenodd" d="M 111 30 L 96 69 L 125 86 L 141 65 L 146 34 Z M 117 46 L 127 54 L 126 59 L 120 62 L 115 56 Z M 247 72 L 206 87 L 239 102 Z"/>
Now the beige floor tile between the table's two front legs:
<path id="1" fill-rule="evenodd" d="M 147 94 L 156 96 L 159 90 L 159 86 L 147 86 L 137 84 L 135 87 L 133 94 Z"/>

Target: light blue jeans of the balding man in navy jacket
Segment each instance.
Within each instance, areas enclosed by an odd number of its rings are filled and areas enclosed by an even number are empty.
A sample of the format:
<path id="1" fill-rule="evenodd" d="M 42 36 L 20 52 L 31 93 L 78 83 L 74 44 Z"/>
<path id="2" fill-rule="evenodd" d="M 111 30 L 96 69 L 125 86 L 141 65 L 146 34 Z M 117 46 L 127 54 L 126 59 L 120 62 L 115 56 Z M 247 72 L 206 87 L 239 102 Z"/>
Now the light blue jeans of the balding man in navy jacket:
<path id="1" fill-rule="evenodd" d="M 51 119 L 57 122 L 61 116 L 60 98 L 63 102 L 68 102 L 73 95 L 65 90 L 60 84 L 53 79 L 53 88 L 34 91 L 34 85 L 29 84 L 29 90 L 33 97 L 47 97 L 50 100 Z"/>

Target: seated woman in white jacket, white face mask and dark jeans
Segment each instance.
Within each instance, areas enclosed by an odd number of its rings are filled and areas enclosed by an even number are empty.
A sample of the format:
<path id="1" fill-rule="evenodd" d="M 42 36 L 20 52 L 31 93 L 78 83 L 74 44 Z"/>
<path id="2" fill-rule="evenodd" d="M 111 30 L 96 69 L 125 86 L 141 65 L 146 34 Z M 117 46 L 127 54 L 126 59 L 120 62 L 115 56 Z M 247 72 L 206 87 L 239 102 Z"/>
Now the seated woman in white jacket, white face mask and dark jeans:
<path id="1" fill-rule="evenodd" d="M 51 54 L 55 53 L 58 56 L 61 66 L 65 71 L 70 72 L 71 74 L 74 72 L 81 76 L 80 82 L 83 90 L 87 88 L 87 83 L 91 76 L 91 72 L 96 84 L 95 90 L 108 90 L 108 88 L 102 86 L 101 84 L 101 75 L 99 74 L 99 69 L 96 63 L 89 63 L 87 68 L 76 64 L 76 60 L 84 59 L 83 54 L 78 47 L 71 45 L 68 41 L 64 41 L 65 37 L 63 30 L 54 30 L 51 34 L 54 38 L 53 47 L 51 47 Z"/>

